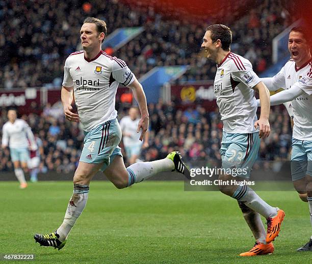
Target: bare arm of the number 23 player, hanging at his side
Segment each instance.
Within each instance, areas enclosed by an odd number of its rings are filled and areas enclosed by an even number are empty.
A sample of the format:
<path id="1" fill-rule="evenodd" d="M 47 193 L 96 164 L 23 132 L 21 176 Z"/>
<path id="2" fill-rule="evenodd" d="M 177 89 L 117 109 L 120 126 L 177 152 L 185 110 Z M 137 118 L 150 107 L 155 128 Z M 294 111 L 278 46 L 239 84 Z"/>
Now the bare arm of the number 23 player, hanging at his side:
<path id="1" fill-rule="evenodd" d="M 259 126 L 259 138 L 267 138 L 270 135 L 270 92 L 263 82 L 255 85 L 253 89 L 258 91 L 261 101 L 260 118 L 254 123 L 254 126 Z"/>

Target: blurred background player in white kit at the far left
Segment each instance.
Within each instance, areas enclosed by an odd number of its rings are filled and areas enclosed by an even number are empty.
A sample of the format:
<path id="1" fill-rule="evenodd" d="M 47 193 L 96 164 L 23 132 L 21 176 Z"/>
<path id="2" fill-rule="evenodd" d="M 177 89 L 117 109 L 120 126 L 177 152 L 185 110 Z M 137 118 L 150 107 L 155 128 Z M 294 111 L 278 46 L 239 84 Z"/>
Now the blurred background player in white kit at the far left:
<path id="1" fill-rule="evenodd" d="M 17 118 L 16 110 L 8 111 L 8 119 L 2 129 L 2 147 L 9 146 L 15 176 L 20 183 L 19 187 L 24 189 L 27 188 L 24 171 L 28 170 L 29 149 L 36 150 L 37 145 L 31 128 L 24 120 Z"/>

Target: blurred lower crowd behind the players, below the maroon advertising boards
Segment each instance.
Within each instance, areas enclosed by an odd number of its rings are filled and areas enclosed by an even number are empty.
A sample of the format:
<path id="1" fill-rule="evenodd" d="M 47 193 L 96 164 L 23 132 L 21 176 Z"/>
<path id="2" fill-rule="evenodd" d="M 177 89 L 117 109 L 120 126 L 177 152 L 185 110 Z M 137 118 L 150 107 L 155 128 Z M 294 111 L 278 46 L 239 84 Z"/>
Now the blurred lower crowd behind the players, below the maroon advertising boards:
<path id="1" fill-rule="evenodd" d="M 150 114 L 149 147 L 143 149 L 140 159 L 163 159 L 169 152 L 178 150 L 186 161 L 196 164 L 220 160 L 222 122 L 218 110 L 206 112 L 204 108 L 177 110 L 173 102 L 148 105 Z M 127 108 L 119 104 L 118 119 L 127 115 Z M 0 117 L 0 137 L 6 122 L 6 110 Z M 21 116 L 28 122 L 35 135 L 43 142 L 44 155 L 40 171 L 55 170 L 72 173 L 83 147 L 83 132 L 78 123 L 64 119 L 62 111 L 51 110 L 49 105 L 41 115 Z M 261 141 L 259 160 L 289 160 L 291 150 L 290 118 L 283 106 L 275 107 L 270 115 L 270 137 Z M 122 145 L 121 145 L 122 146 Z M 123 152 L 125 163 L 127 157 Z M 0 150 L 0 171 L 12 171 L 9 149 Z"/>

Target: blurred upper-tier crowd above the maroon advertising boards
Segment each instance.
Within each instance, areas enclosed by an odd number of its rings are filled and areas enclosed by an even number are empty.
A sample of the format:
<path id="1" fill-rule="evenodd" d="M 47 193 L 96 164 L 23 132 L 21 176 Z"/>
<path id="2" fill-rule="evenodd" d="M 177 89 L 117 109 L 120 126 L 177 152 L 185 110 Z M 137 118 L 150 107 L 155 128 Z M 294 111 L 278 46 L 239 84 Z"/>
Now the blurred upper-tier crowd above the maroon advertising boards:
<path id="1" fill-rule="evenodd" d="M 125 5 L 118 0 L 64 2 L 0 1 L 0 89 L 59 87 L 67 56 L 81 50 L 80 28 L 87 16 L 107 22 L 108 34 L 121 27 L 143 26 L 145 31 L 111 55 L 123 59 L 139 78 L 154 66 L 190 65 L 178 82 L 209 80 L 216 66 L 206 62 L 200 44 L 206 25 L 168 20 L 151 7 Z M 271 62 L 271 41 L 288 27 L 285 1 L 265 0 L 230 22 L 232 51 L 249 59 L 257 73 Z"/>

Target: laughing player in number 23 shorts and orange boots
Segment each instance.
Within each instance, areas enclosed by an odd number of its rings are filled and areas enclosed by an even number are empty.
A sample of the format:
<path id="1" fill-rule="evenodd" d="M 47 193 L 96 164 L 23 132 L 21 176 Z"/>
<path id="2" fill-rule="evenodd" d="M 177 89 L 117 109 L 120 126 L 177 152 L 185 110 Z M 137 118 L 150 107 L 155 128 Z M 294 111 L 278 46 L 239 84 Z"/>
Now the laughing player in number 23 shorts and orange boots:
<path id="1" fill-rule="evenodd" d="M 201 47 L 207 58 L 217 63 L 214 91 L 223 121 L 221 142 L 222 168 L 226 171 L 241 169 L 240 177 L 220 174 L 219 179 L 244 180 L 249 178 L 250 170 L 256 159 L 260 138 L 268 137 L 269 91 L 253 72 L 251 63 L 245 58 L 230 52 L 232 33 L 221 24 L 210 25 L 205 32 Z M 257 120 L 257 103 L 254 90 L 262 99 L 262 110 Z M 272 207 L 262 200 L 246 185 L 221 185 L 220 191 L 236 199 L 242 209 L 255 239 L 254 247 L 241 253 L 241 256 L 269 254 L 274 251 L 272 241 L 278 235 L 284 218 L 283 210 Z M 261 221 L 267 219 L 267 232 Z"/>

